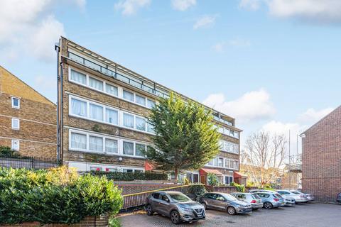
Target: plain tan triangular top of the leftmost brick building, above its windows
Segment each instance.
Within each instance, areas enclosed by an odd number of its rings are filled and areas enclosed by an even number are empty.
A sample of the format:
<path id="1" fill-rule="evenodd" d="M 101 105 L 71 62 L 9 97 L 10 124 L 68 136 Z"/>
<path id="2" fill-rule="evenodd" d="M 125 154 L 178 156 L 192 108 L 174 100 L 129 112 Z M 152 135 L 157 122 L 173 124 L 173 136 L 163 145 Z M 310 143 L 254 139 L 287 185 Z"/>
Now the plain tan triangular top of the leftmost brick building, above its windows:
<path id="1" fill-rule="evenodd" d="M 10 94 L 23 99 L 30 99 L 32 101 L 38 101 L 43 104 L 53 105 L 55 104 L 47 99 L 45 96 L 37 92 L 14 74 L 6 70 L 0 65 L 0 93 Z"/>

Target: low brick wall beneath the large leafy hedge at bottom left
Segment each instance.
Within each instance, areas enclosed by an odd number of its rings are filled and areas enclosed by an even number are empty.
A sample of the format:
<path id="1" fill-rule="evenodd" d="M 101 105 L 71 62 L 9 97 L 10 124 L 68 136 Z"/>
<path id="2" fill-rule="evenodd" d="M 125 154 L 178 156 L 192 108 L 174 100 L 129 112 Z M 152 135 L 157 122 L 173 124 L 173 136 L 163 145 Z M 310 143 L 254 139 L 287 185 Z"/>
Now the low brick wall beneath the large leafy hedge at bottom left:
<path id="1" fill-rule="evenodd" d="M 43 225 L 43 227 L 107 227 L 109 221 L 109 216 L 87 216 L 83 221 L 80 223 L 75 223 L 72 225 L 67 224 L 46 224 Z M 38 222 L 24 222 L 24 223 L 18 223 L 13 225 L 2 225 L 1 227 L 38 227 L 40 223 Z"/>

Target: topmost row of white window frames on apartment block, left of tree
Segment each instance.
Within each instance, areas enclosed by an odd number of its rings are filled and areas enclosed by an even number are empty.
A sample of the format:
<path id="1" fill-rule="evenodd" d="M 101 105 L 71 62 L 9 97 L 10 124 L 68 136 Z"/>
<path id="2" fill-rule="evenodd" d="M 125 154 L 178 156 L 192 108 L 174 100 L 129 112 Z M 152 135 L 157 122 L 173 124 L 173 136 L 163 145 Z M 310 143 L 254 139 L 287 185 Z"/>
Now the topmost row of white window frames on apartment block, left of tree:
<path id="1" fill-rule="evenodd" d="M 80 73 L 82 73 L 82 74 L 85 74 L 85 76 L 86 76 L 86 84 L 82 84 L 82 83 L 80 83 L 80 82 L 77 82 L 77 81 L 75 81 L 75 80 L 72 80 L 72 79 L 71 79 L 71 70 L 76 71 L 76 72 L 80 72 Z M 94 87 L 90 87 L 90 83 L 89 83 L 90 77 L 92 77 L 93 79 L 97 79 L 97 80 L 103 82 L 103 90 L 99 90 L 99 89 L 96 89 L 96 88 L 94 88 Z M 94 91 L 97 91 L 97 92 L 100 92 L 100 93 L 103 93 L 103 94 L 107 94 L 107 95 L 109 95 L 109 96 L 113 96 L 113 97 L 122 99 L 122 100 L 124 100 L 124 101 L 128 101 L 128 102 L 130 102 L 130 103 L 132 103 L 132 104 L 136 104 L 136 105 L 138 105 L 138 106 L 143 106 L 143 107 L 146 108 L 146 109 L 151 109 L 151 108 L 148 107 L 148 105 L 147 105 L 148 99 L 151 100 L 151 101 L 154 101 L 155 104 L 157 103 L 156 100 L 154 100 L 154 99 L 152 99 L 152 98 L 149 98 L 148 96 L 145 96 L 145 95 L 143 95 L 143 94 L 139 94 L 139 93 L 137 93 L 137 92 L 133 92 L 131 89 L 127 89 L 127 88 L 125 88 L 125 87 L 121 87 L 121 86 L 119 86 L 119 85 L 117 85 L 117 84 L 114 84 L 114 83 L 112 83 L 112 82 L 108 82 L 107 80 L 102 79 L 102 78 L 100 78 L 100 77 L 97 77 L 97 76 L 94 75 L 94 74 L 89 74 L 88 72 L 85 72 L 85 71 L 83 71 L 83 70 L 75 69 L 75 67 L 69 67 L 69 76 L 68 76 L 68 79 L 69 79 L 69 82 L 78 84 L 78 85 L 80 85 L 80 86 L 82 86 L 82 87 L 87 87 L 88 89 L 92 89 L 92 90 L 94 90 Z M 107 86 L 106 86 L 107 84 L 109 84 L 109 85 L 111 85 L 111 86 L 114 86 L 114 87 L 117 87 L 117 95 L 114 95 L 114 94 L 112 94 L 112 93 L 107 92 Z M 128 100 L 128 99 L 124 99 L 124 98 L 123 98 L 123 90 L 126 90 L 126 92 L 131 92 L 131 93 L 133 94 L 133 96 L 134 96 L 134 100 L 133 100 L 133 101 L 130 101 L 130 100 Z M 139 96 L 141 96 L 141 97 L 144 97 L 144 99 L 146 100 L 146 101 L 145 101 L 145 105 L 142 105 L 142 104 L 139 104 L 139 103 L 136 102 L 136 95 L 139 95 Z"/>

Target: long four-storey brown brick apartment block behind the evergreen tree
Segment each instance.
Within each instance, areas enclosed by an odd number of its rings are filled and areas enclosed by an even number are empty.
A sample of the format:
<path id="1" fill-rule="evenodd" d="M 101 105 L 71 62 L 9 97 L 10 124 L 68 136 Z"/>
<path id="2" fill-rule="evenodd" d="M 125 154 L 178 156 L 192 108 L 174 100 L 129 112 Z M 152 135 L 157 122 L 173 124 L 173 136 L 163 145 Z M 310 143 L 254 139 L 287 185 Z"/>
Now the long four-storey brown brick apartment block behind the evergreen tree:
<path id="1" fill-rule="evenodd" d="M 58 150 L 63 162 L 80 171 L 149 168 L 142 151 L 151 144 L 154 133 L 146 116 L 171 89 L 66 38 L 60 38 L 57 49 Z M 222 133 L 220 155 L 202 170 L 183 174 L 193 182 L 206 182 L 207 174 L 214 172 L 229 184 L 239 170 L 241 130 L 235 127 L 234 118 L 217 111 L 214 115 Z"/>

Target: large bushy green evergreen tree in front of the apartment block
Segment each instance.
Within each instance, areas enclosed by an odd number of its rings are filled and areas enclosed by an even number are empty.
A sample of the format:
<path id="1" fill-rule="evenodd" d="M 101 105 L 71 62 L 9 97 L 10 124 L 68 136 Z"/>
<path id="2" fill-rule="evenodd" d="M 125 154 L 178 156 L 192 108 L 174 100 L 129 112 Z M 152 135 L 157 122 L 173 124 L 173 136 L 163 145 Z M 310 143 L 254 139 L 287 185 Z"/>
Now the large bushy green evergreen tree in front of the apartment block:
<path id="1" fill-rule="evenodd" d="M 175 179 L 180 170 L 197 170 L 219 153 L 212 113 L 200 104 L 171 94 L 151 110 L 148 121 L 156 136 L 147 158 L 158 170 L 173 170 Z"/>

